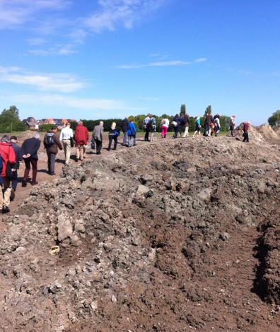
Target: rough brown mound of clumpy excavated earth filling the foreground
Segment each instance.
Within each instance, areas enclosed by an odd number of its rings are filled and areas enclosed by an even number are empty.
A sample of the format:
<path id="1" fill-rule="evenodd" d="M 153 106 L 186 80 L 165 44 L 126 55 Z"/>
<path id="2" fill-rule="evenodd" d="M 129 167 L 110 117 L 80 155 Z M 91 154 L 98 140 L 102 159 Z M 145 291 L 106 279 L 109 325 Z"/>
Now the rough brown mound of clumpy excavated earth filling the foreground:
<path id="1" fill-rule="evenodd" d="M 0 224 L 0 330 L 280 331 L 276 133 L 59 152 L 55 177 L 41 150 Z"/>

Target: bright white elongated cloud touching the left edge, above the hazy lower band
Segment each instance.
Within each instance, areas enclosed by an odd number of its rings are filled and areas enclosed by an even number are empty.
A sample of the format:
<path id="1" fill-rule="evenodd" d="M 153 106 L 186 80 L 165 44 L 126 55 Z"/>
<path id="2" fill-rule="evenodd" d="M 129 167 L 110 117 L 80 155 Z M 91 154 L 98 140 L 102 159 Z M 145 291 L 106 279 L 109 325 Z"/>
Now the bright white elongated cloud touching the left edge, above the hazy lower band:
<path id="1" fill-rule="evenodd" d="M 65 73 L 30 73 L 23 69 L 0 67 L 0 81 L 27 85 L 37 90 L 55 90 L 71 93 L 84 88 L 87 83 L 74 75 Z"/>

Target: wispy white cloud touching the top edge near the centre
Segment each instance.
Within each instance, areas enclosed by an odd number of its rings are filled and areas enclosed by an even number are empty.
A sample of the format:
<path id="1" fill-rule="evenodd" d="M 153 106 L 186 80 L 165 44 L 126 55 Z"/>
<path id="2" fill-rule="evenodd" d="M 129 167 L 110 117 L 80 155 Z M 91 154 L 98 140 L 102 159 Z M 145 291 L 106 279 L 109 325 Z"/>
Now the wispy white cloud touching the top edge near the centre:
<path id="1" fill-rule="evenodd" d="M 130 29 L 137 20 L 165 2 L 166 0 L 99 0 L 100 11 L 89 16 L 84 24 L 93 32 L 112 31 L 117 25 Z"/>

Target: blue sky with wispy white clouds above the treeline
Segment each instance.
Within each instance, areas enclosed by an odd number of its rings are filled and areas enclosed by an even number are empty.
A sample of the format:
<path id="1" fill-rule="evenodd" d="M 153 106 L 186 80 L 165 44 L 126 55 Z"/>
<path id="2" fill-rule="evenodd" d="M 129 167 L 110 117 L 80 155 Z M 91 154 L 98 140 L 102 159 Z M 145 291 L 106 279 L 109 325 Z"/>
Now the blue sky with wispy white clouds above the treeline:
<path id="1" fill-rule="evenodd" d="M 0 110 L 21 119 L 280 109 L 279 0 L 0 0 Z"/>

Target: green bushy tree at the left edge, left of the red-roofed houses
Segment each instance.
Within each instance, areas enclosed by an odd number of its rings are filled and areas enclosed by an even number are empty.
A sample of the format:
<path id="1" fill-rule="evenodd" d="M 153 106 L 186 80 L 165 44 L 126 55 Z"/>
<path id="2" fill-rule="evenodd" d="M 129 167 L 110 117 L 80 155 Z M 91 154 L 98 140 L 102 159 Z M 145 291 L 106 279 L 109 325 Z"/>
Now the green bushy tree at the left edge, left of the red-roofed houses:
<path id="1" fill-rule="evenodd" d="M 10 106 L 4 109 L 0 114 L 0 132 L 11 133 L 12 131 L 25 131 L 25 124 L 18 117 L 18 109 L 16 106 Z"/>

